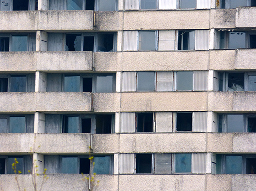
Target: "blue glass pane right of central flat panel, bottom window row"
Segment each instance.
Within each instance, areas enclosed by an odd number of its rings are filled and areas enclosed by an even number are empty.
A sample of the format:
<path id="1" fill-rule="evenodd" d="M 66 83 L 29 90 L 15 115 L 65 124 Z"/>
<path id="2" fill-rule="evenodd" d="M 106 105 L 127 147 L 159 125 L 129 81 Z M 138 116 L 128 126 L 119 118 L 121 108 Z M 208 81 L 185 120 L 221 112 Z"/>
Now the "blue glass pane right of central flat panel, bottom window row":
<path id="1" fill-rule="evenodd" d="M 175 155 L 175 172 L 191 172 L 191 154 L 176 154 Z"/>

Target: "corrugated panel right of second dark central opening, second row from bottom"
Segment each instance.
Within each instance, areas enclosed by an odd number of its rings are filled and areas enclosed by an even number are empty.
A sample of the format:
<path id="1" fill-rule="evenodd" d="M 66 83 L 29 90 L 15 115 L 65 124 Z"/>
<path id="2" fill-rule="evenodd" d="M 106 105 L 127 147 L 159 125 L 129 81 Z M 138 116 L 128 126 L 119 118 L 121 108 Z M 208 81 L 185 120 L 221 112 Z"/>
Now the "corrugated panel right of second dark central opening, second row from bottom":
<path id="1" fill-rule="evenodd" d="M 207 112 L 194 112 L 193 114 L 193 132 L 206 132 Z"/>

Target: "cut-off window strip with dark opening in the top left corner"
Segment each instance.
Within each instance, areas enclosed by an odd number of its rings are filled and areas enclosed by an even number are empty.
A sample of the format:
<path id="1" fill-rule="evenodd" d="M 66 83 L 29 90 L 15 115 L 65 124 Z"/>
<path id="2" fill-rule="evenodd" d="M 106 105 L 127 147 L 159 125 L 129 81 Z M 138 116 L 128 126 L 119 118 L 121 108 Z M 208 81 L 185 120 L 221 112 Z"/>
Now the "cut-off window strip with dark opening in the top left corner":
<path id="1" fill-rule="evenodd" d="M 38 10 L 38 0 L 4 0 L 0 10 Z"/>

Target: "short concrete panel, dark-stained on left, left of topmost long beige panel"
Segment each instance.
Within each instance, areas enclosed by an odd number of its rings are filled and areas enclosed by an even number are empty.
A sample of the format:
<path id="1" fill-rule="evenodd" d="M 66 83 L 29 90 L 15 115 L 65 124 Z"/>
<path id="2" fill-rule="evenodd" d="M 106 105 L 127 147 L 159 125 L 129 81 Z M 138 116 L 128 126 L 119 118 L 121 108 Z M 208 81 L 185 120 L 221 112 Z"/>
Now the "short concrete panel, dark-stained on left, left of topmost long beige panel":
<path id="1" fill-rule="evenodd" d="M 120 31 L 123 28 L 123 12 L 95 12 L 95 27 L 97 31 Z"/>

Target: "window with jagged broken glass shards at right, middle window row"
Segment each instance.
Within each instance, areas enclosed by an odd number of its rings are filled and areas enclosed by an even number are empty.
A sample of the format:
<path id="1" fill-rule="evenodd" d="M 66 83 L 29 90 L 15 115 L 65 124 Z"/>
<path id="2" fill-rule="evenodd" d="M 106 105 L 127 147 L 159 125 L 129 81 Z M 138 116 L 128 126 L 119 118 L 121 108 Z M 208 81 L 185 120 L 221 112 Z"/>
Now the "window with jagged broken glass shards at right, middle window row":
<path id="1" fill-rule="evenodd" d="M 228 91 L 244 91 L 245 73 L 229 73 Z"/>

